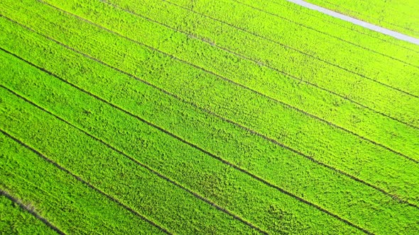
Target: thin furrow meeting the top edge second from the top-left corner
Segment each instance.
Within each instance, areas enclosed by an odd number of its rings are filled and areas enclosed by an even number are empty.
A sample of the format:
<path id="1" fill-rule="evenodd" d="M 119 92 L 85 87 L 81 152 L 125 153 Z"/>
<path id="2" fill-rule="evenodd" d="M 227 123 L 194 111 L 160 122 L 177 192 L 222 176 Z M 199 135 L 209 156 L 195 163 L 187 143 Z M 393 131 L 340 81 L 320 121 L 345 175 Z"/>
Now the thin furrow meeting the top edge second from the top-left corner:
<path id="1" fill-rule="evenodd" d="M 178 33 L 183 33 L 183 34 L 187 35 L 188 37 L 195 38 L 196 40 L 200 40 L 200 41 L 202 41 L 202 42 L 205 42 L 205 43 L 207 43 L 208 45 L 210 45 L 210 46 L 212 46 L 212 47 L 216 47 L 216 48 L 218 48 L 219 50 L 225 51 L 225 52 L 230 53 L 230 54 L 232 54 L 232 55 L 236 55 L 237 57 L 240 57 L 241 59 L 249 60 L 250 62 L 254 62 L 255 64 L 259 64 L 259 65 L 261 65 L 261 66 L 263 66 L 263 67 L 266 67 L 266 68 L 268 68 L 268 69 L 271 69 L 271 70 L 273 70 L 273 71 L 276 71 L 276 72 L 277 72 L 277 73 L 279 73 L 279 74 L 283 74 L 284 76 L 288 76 L 290 79 L 294 79 L 294 80 L 296 80 L 296 81 L 299 81 L 300 83 L 307 84 L 308 86 L 313 86 L 313 87 L 315 87 L 315 88 L 320 89 L 321 91 L 325 91 L 326 93 L 330 93 L 331 95 L 338 96 L 339 98 L 342 98 L 342 99 L 344 99 L 345 101 L 349 101 L 350 103 L 354 103 L 355 105 L 359 105 L 361 108 L 365 108 L 366 110 L 370 110 L 370 111 L 371 111 L 371 112 L 373 112 L 373 113 L 376 113 L 376 114 L 378 114 L 378 115 L 383 115 L 384 117 L 388 117 L 388 118 L 390 118 L 391 120 L 394 120 L 394 121 L 396 121 L 396 122 L 400 122 L 400 123 L 401 123 L 401 124 L 403 124 L 403 125 L 406 125 L 406 126 L 408 126 L 408 127 L 412 127 L 412 128 L 414 128 L 414 129 L 419 130 L 419 127 L 416 127 L 416 126 L 414 126 L 414 125 L 411 125 L 411 124 L 409 124 L 408 122 L 403 122 L 403 121 L 401 121 L 401 120 L 396 119 L 395 117 L 391 117 L 390 115 L 386 115 L 385 113 L 381 113 L 381 112 L 379 112 L 379 111 L 377 111 L 377 110 L 374 110 L 374 109 L 372 109 L 372 108 L 367 107 L 366 105 L 363 105 L 363 104 L 361 104 L 361 103 L 358 103 L 357 101 L 352 101 L 351 99 L 349 99 L 349 98 L 347 98 L 347 97 L 345 97 L 345 96 L 342 96 L 342 95 L 340 95 L 339 93 L 335 93 L 334 91 L 329 91 L 329 90 L 327 90 L 327 89 L 325 89 L 325 88 L 322 88 L 322 87 L 320 87 L 320 86 L 317 86 L 316 84 L 312 84 L 312 83 L 310 83 L 309 81 L 305 81 L 305 80 L 300 79 L 300 78 L 298 78 L 298 77 L 296 77 L 296 76 L 293 76 L 293 75 L 291 75 L 291 74 L 288 74 L 288 73 L 286 73 L 286 72 L 284 72 L 284 71 L 281 71 L 281 70 L 279 70 L 279 69 L 276 69 L 276 68 L 274 68 L 274 67 L 271 67 L 271 66 L 270 66 L 270 65 L 268 65 L 268 64 L 265 64 L 265 63 L 263 63 L 263 62 L 259 62 L 259 61 L 257 61 L 256 59 L 251 59 L 251 58 L 246 57 L 246 56 L 244 56 L 244 55 L 241 55 L 241 54 L 239 54 L 239 53 L 237 53 L 237 52 L 233 52 L 232 50 L 229 50 L 229 49 L 227 49 L 227 48 L 224 48 L 224 47 L 221 47 L 221 46 L 219 46 L 219 45 L 216 45 L 216 44 L 214 44 L 214 43 L 210 42 L 209 40 L 205 40 L 205 39 L 203 39 L 203 38 L 199 38 L 199 37 L 197 37 L 196 35 L 193 35 L 193 34 L 187 33 L 187 32 L 185 32 L 185 31 L 183 31 L 183 30 L 178 30 L 178 29 L 173 28 L 173 27 L 171 27 L 171 26 L 169 26 L 169 25 L 166 25 L 165 23 L 160 23 L 160 22 L 158 22 L 158 21 L 156 21 L 156 20 L 153 20 L 153 19 L 151 19 L 151 18 L 148 18 L 147 16 L 143 16 L 143 15 L 141 15 L 141 14 L 139 14 L 139 13 L 135 13 L 134 11 L 130 11 L 130 10 L 125 9 L 125 8 L 121 8 L 120 6 L 117 6 L 117 5 L 115 5 L 115 4 L 111 4 L 111 3 L 107 2 L 107 0 L 99 0 L 99 1 L 102 1 L 104 4 L 109 4 L 109 6 L 112 6 L 112 7 L 114 7 L 114 8 L 118 8 L 118 9 L 120 9 L 121 11 L 125 11 L 126 13 L 130 13 L 130 14 L 132 14 L 132 15 L 134 15 L 134 16 L 141 17 L 141 18 L 145 19 L 146 21 L 150 21 L 151 23 L 157 23 L 158 25 L 162 25 L 162 26 L 164 26 L 164 27 L 166 27 L 166 28 L 170 28 L 171 30 L 174 30 L 175 32 L 178 32 Z M 139 43 L 141 43 L 141 42 L 139 42 Z M 241 86 L 244 86 L 244 85 L 241 85 Z M 247 86 L 246 86 L 246 87 L 247 87 Z M 265 96 L 268 96 L 268 95 L 265 95 Z M 269 97 L 270 97 L 270 96 L 269 96 Z M 281 101 L 279 101 L 279 102 L 281 102 Z"/>

